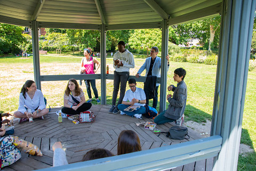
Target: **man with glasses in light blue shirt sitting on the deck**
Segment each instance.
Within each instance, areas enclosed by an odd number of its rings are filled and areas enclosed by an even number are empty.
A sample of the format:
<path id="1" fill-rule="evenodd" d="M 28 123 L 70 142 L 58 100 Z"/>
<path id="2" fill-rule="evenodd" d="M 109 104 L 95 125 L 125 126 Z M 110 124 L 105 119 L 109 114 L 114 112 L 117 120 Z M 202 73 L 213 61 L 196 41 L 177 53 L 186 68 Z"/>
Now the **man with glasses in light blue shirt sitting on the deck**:
<path id="1" fill-rule="evenodd" d="M 136 87 L 137 83 L 134 78 L 129 79 L 128 81 L 130 89 L 126 91 L 122 104 L 118 105 L 118 109 L 122 111 L 121 115 L 125 113 L 131 117 L 136 117 L 142 119 L 142 114 L 146 113 L 145 103 L 146 103 L 146 94 L 142 88 Z M 140 108 L 133 111 L 125 111 L 130 105 L 139 105 Z"/>

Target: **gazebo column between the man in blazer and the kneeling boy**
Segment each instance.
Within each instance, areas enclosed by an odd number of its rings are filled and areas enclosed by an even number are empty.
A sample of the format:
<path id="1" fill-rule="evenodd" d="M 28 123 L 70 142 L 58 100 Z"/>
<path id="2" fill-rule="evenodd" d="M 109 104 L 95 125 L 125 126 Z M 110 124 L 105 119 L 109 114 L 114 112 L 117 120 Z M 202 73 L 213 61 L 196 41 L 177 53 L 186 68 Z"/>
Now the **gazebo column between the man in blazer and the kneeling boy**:
<path id="1" fill-rule="evenodd" d="M 167 86 L 167 60 L 165 56 L 168 54 L 168 40 L 169 40 L 169 26 L 167 20 L 162 22 L 162 56 L 161 56 L 161 90 L 160 90 L 160 112 L 165 110 L 166 107 L 166 86 Z"/>

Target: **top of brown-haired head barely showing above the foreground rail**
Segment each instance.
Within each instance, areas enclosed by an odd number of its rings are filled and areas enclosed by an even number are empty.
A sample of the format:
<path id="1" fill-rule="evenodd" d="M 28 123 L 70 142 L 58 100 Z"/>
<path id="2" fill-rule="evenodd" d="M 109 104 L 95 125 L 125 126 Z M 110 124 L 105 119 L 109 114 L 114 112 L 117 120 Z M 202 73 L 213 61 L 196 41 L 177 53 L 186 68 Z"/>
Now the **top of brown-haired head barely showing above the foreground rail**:
<path id="1" fill-rule="evenodd" d="M 105 157 L 111 157 L 114 156 L 110 151 L 105 150 L 105 149 L 93 149 L 86 154 L 84 154 L 84 157 L 82 161 L 88 161 L 88 160 L 94 160 L 94 159 L 100 159 L 100 158 L 105 158 Z"/>

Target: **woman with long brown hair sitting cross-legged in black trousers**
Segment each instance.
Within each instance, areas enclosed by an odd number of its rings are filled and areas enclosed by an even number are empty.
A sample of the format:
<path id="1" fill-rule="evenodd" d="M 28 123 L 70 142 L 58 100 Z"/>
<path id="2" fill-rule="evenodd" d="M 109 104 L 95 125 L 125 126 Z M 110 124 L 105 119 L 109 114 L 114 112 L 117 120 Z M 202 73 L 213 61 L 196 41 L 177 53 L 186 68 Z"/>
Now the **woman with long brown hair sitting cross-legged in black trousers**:
<path id="1" fill-rule="evenodd" d="M 84 92 L 79 87 L 76 79 L 69 79 L 64 93 L 64 107 L 61 109 L 61 112 L 68 115 L 79 115 L 91 107 L 92 103 L 85 102 Z"/>

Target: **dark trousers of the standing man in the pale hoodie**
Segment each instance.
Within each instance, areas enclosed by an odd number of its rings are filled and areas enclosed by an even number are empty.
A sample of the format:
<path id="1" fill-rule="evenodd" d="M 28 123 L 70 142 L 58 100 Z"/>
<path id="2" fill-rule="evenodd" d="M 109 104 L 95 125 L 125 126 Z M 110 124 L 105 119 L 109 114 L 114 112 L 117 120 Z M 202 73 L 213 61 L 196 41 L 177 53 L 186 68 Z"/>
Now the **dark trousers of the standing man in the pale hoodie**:
<path id="1" fill-rule="evenodd" d="M 119 100 L 117 102 L 118 104 L 121 104 L 124 99 L 125 89 L 126 89 L 126 83 L 129 77 L 129 72 L 117 72 L 114 71 L 114 90 L 112 95 L 112 105 L 116 105 L 116 99 L 117 94 L 119 91 L 120 86 L 120 96 Z"/>

